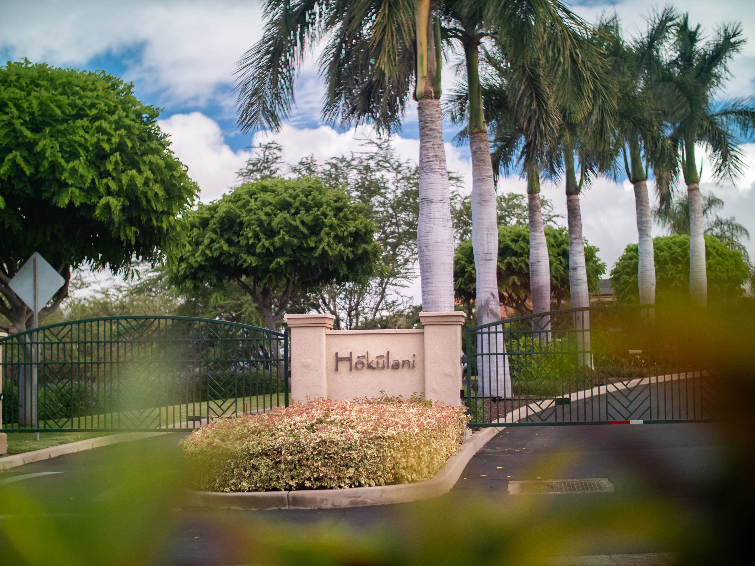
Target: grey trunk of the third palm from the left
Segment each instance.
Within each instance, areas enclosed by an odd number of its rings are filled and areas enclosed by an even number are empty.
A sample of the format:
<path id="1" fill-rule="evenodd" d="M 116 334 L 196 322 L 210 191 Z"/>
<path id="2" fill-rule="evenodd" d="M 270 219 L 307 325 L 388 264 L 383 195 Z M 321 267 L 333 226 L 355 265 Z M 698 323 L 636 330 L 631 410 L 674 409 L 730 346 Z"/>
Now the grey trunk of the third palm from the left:
<path id="1" fill-rule="evenodd" d="M 529 208 L 529 291 L 532 295 L 532 313 L 550 310 L 550 259 L 545 241 L 545 225 L 540 204 L 540 180 L 538 174 L 527 177 L 527 201 Z M 550 317 L 533 318 L 533 330 L 550 331 Z M 548 340 L 548 333 L 535 334 Z"/>

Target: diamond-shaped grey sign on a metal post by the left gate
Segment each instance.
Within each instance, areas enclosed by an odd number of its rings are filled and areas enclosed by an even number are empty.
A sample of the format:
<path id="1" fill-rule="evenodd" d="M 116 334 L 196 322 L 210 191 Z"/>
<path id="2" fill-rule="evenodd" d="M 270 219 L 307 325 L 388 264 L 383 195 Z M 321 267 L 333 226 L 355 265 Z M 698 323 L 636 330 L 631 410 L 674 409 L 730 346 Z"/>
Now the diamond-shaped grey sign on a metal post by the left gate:
<path id="1" fill-rule="evenodd" d="M 39 429 L 38 398 L 39 388 L 39 309 L 44 307 L 57 291 L 66 282 L 53 266 L 51 266 L 39 252 L 34 252 L 32 257 L 21 266 L 14 278 L 8 283 L 20 300 L 32 309 L 32 426 Z M 19 395 L 23 393 L 19 391 Z M 39 432 L 34 433 L 34 438 L 39 440 Z"/>

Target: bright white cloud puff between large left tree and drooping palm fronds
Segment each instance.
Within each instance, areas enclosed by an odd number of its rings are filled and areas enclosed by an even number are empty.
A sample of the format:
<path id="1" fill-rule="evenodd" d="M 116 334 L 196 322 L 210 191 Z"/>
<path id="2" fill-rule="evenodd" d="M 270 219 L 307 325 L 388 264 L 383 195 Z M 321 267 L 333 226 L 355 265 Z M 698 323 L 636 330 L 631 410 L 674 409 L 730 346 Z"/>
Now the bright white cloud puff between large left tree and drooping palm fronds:
<path id="1" fill-rule="evenodd" d="M 220 125 L 202 112 L 174 114 L 159 120 L 158 125 L 171 135 L 171 149 L 199 184 L 202 201 L 223 195 L 236 181 L 236 171 L 251 156 L 242 149 L 233 151 L 223 140 Z"/>

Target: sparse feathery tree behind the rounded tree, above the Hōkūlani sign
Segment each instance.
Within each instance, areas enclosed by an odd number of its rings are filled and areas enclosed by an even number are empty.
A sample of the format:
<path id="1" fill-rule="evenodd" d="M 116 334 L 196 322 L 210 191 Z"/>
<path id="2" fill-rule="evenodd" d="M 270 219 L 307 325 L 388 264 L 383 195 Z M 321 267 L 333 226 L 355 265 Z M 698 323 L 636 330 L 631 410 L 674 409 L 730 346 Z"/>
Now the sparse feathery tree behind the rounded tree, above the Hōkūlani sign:
<path id="1" fill-rule="evenodd" d="M 402 161 L 388 140 L 365 140 L 359 151 L 324 163 L 309 155 L 295 165 L 285 165 L 283 149 L 275 142 L 254 149 L 239 178 L 313 177 L 343 190 L 363 205 L 382 248 L 371 278 L 313 288 L 294 298 L 297 309 L 334 315 L 337 330 L 401 324 L 405 317 L 399 313 L 411 303 L 403 291 L 416 278 L 418 167 Z"/>

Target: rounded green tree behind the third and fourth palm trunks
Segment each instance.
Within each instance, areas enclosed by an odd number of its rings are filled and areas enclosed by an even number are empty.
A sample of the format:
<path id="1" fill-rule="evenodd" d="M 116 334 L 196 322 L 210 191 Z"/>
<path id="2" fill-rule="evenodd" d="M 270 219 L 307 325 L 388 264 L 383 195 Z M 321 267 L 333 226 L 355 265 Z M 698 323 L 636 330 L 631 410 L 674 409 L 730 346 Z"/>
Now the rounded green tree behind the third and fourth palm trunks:
<path id="1" fill-rule="evenodd" d="M 550 288 L 556 309 L 569 300 L 569 232 L 565 228 L 545 227 L 550 259 Z M 584 257 L 590 291 L 598 291 L 600 276 L 606 264 L 598 257 L 598 248 L 585 242 Z M 520 315 L 532 312 L 529 272 L 529 229 L 527 226 L 501 226 L 498 229 L 498 292 L 501 304 Z M 471 314 L 475 300 L 475 263 L 472 241 L 465 240 L 456 248 L 454 257 L 456 298 Z"/>

